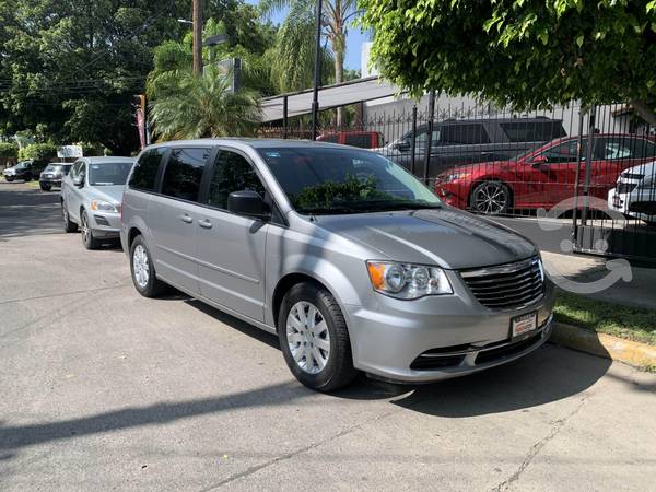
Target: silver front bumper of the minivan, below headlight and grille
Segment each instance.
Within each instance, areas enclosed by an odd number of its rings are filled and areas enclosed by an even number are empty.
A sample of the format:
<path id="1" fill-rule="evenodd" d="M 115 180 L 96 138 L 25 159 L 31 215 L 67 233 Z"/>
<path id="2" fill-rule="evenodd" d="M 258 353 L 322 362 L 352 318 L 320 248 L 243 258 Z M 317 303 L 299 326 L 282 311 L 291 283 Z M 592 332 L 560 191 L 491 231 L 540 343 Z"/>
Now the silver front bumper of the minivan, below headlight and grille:
<path id="1" fill-rule="evenodd" d="M 375 309 L 345 306 L 353 364 L 401 383 L 430 383 L 504 364 L 549 339 L 553 303 L 553 285 L 547 281 L 542 297 L 513 311 L 492 311 L 460 295 L 412 302 L 385 297 Z M 538 328 L 511 340 L 511 319 L 531 312 L 538 312 Z M 418 364 L 424 356 L 436 363 Z"/>

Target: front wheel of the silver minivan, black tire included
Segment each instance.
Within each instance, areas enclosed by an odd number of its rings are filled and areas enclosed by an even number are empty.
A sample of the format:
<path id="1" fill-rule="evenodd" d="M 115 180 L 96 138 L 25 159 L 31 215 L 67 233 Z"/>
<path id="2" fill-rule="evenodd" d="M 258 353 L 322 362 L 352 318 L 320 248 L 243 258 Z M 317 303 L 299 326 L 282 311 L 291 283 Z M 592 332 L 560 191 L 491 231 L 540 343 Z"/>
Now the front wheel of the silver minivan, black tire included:
<path id="1" fill-rule="evenodd" d="M 313 313 L 314 328 L 308 329 L 309 323 L 300 320 L 309 319 Z M 323 288 L 298 283 L 285 294 L 278 316 L 278 338 L 292 374 L 308 388 L 332 391 L 358 375 L 347 321 L 335 297 Z M 321 340 L 320 345 L 317 340 Z"/>

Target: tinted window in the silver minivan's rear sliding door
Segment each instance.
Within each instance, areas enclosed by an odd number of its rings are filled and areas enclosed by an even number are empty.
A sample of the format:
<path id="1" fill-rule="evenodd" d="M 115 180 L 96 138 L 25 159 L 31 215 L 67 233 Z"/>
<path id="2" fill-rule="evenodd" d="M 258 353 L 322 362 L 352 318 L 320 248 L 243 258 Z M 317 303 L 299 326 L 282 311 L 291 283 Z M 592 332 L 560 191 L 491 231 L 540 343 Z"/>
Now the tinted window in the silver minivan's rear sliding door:
<path id="1" fill-rule="evenodd" d="M 162 194 L 197 201 L 210 149 L 173 149 L 166 163 Z"/>

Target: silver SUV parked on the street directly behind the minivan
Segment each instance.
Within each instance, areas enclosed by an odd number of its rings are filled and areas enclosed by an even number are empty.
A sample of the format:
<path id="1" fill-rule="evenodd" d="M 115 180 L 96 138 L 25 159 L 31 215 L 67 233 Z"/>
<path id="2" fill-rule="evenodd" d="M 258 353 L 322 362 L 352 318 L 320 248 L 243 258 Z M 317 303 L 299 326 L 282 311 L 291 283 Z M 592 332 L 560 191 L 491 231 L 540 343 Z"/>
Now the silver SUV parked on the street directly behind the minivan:
<path id="1" fill-rule="evenodd" d="M 61 180 L 63 230 L 80 227 L 86 249 L 118 238 L 120 200 L 133 163 L 132 157 L 82 157 Z"/>

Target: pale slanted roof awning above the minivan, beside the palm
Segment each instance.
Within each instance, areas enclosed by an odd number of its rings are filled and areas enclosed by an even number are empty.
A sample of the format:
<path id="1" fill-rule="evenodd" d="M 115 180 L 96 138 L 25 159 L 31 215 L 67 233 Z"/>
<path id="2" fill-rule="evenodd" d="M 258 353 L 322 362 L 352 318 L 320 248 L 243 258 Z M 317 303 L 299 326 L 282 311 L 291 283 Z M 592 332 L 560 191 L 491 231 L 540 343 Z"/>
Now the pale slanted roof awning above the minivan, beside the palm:
<path id="1" fill-rule="evenodd" d="M 356 79 L 341 84 L 325 85 L 319 89 L 319 109 L 330 109 L 364 101 L 379 99 L 398 94 L 397 86 L 378 80 L 378 77 Z M 260 99 L 262 122 L 283 118 L 284 99 L 288 102 L 288 117 L 312 113 L 313 91 L 280 94 Z"/>

